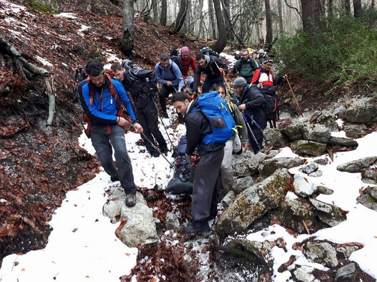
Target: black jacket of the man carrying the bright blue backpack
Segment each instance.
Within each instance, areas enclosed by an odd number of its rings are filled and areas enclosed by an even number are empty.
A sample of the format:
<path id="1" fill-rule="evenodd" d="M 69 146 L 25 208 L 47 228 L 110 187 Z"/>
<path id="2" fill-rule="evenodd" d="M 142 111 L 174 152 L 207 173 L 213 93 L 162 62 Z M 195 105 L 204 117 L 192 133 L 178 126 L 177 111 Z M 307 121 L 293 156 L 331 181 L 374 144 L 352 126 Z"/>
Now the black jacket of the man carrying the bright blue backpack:
<path id="1" fill-rule="evenodd" d="M 213 143 L 205 145 L 202 140 L 206 134 L 212 133 L 211 125 L 202 111 L 192 111 L 195 101 L 189 105 L 185 115 L 186 154 L 192 155 L 195 148 L 198 148 L 198 155 L 204 155 L 207 152 L 214 152 L 225 147 L 225 143 Z"/>

